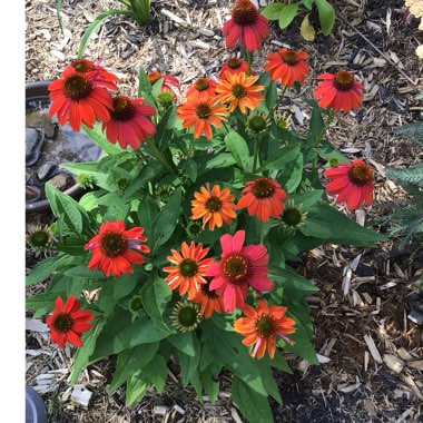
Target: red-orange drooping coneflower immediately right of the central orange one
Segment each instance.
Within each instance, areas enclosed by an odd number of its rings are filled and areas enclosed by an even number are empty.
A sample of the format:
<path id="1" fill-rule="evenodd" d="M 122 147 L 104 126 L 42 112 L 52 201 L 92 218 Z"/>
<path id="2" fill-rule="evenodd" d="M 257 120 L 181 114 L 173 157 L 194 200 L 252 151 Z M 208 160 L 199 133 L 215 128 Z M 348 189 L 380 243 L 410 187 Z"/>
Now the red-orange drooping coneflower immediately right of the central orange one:
<path id="1" fill-rule="evenodd" d="M 270 216 L 278 217 L 284 212 L 284 201 L 288 198 L 281 184 L 270 178 L 248 180 L 243 189 L 237 208 L 248 208 L 249 216 L 257 215 L 262 222 Z"/>

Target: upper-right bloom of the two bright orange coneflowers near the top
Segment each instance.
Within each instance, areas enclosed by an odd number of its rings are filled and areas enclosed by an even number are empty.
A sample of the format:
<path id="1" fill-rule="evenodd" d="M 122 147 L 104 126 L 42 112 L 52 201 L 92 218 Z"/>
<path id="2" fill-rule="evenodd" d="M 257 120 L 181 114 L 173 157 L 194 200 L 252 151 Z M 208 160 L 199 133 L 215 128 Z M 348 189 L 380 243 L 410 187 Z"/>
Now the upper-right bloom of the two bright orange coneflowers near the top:
<path id="1" fill-rule="evenodd" d="M 258 76 L 247 77 L 244 72 L 226 73 L 226 80 L 220 81 L 216 88 L 216 92 L 219 92 L 218 99 L 222 102 L 230 102 L 230 112 L 237 107 L 243 114 L 247 112 L 247 108 L 254 110 L 264 100 L 263 94 L 257 91 L 263 91 L 265 86 L 255 86 L 257 79 Z"/>

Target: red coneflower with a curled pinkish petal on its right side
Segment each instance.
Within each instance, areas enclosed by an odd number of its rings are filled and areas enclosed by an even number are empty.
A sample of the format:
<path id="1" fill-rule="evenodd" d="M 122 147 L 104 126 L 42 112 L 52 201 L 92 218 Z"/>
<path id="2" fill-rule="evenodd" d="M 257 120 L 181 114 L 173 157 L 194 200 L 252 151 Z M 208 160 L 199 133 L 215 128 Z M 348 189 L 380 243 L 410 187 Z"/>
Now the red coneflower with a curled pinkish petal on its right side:
<path id="1" fill-rule="evenodd" d="M 144 228 L 140 226 L 126 230 L 122 220 L 102 223 L 100 233 L 85 246 L 85 249 L 92 249 L 89 268 L 91 270 L 98 268 L 106 276 L 111 273 L 116 277 L 120 277 L 124 273 L 134 273 L 132 265 L 142 264 L 146 260 L 140 253 L 150 252 L 147 245 L 138 244 L 147 240 L 142 233 Z"/>

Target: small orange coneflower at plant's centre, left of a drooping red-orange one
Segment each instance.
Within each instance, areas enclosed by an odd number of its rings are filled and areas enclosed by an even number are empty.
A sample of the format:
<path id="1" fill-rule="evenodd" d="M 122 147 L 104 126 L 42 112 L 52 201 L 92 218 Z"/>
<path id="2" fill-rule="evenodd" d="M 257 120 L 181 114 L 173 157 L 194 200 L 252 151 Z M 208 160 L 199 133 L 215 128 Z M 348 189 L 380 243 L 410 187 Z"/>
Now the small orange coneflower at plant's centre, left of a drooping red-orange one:
<path id="1" fill-rule="evenodd" d="M 232 220 L 236 218 L 235 197 L 229 188 L 220 190 L 220 187 L 215 185 L 210 189 L 209 184 L 206 184 L 206 187 L 201 187 L 200 193 L 194 193 L 194 196 L 196 199 L 191 201 L 191 219 L 196 220 L 203 217 L 203 229 L 207 222 L 209 229 L 214 230 L 215 226 L 219 228 L 224 223 L 230 225 Z"/>

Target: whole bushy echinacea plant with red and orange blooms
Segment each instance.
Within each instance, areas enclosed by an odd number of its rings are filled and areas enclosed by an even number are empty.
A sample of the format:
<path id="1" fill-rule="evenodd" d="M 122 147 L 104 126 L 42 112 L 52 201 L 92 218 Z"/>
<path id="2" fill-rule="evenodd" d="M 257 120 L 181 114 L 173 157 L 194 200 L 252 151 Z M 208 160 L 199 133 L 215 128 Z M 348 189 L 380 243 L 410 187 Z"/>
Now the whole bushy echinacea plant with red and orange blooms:
<path id="1" fill-rule="evenodd" d="M 360 82 L 350 72 L 323 76 L 321 106 L 305 99 L 309 128 L 296 132 L 278 111 L 278 87 L 289 95 L 293 82 L 305 83 L 307 53 L 273 53 L 254 76 L 253 51 L 267 30 L 260 20 L 252 39 L 247 23 L 257 16 L 249 4 L 249 21 L 237 10 L 247 28 L 226 32 L 229 47 L 252 48 L 245 61 L 234 57 L 220 79 L 195 81 L 181 101 L 175 77 L 142 68 L 134 99 L 114 97 L 115 78 L 88 61 L 90 70 L 70 66 L 52 82 L 50 115 L 81 127 L 104 157 L 62 165 L 96 181 L 79 201 L 46 185 L 59 253 L 28 276 L 28 285 L 49 278 L 49 286 L 27 307 L 36 317 L 53 313 L 52 341 L 78 347 L 72 384 L 117 355 L 109 391 L 126 384 L 131 405 L 151 386 L 164 392 L 176 362 L 181 385 L 215 402 L 226 368 L 246 419 L 272 422 L 268 396 L 282 403 L 273 370 L 291 372 L 284 352 L 318 364 L 306 299 L 317 287 L 296 272 L 302 253 L 325 243 L 374 247 L 385 237 L 325 194 L 327 185 L 350 210 L 373 201 L 370 166 L 325 138 L 335 112 L 361 107 Z M 175 95 L 166 108 L 160 92 Z"/>

